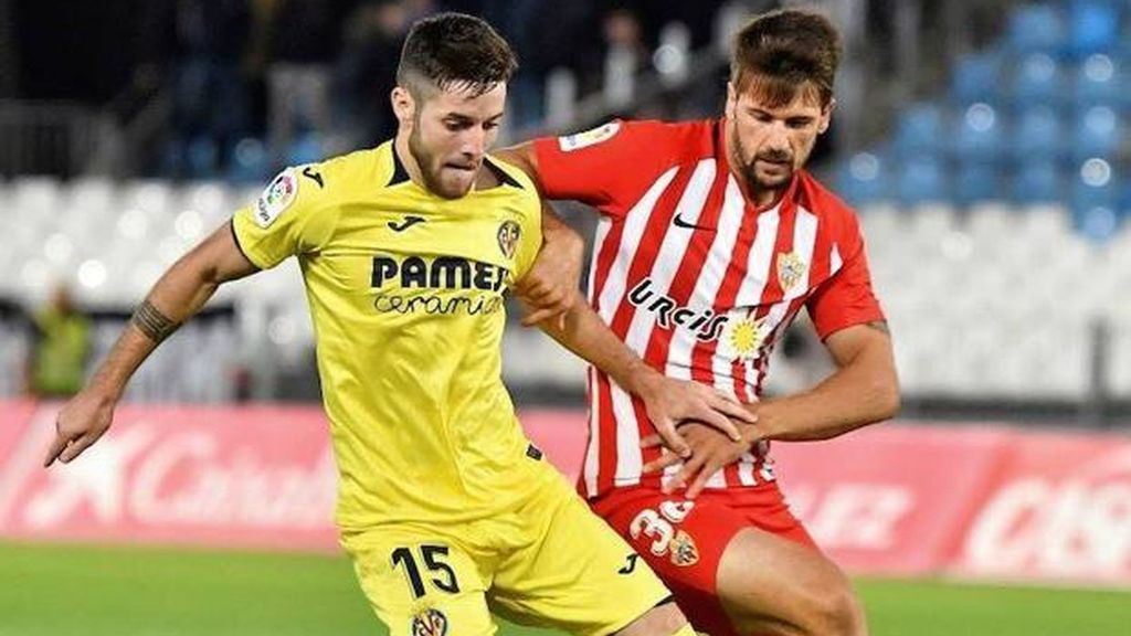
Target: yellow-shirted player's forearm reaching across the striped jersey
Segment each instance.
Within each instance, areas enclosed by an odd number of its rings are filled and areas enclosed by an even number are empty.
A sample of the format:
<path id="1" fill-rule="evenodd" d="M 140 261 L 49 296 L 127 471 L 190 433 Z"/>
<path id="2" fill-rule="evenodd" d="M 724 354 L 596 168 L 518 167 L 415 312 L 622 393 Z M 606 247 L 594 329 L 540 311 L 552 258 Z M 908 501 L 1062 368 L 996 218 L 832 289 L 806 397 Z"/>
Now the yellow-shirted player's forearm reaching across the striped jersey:
<path id="1" fill-rule="evenodd" d="M 564 328 L 556 320 L 546 320 L 538 326 L 633 395 L 647 392 L 649 383 L 659 378 L 659 372 L 621 342 L 584 298 L 578 298 L 566 315 Z"/>

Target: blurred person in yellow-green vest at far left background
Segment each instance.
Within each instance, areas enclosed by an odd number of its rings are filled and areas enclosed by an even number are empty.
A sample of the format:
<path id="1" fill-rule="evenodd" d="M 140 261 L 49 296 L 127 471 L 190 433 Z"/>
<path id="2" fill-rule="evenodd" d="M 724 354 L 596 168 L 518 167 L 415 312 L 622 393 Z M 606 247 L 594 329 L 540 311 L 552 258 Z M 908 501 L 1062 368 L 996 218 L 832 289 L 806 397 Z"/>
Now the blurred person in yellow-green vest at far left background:
<path id="1" fill-rule="evenodd" d="M 34 342 L 27 387 L 36 397 L 67 397 L 83 388 L 90 354 L 90 321 L 75 311 L 70 291 L 60 285 L 51 302 L 32 317 Z"/>

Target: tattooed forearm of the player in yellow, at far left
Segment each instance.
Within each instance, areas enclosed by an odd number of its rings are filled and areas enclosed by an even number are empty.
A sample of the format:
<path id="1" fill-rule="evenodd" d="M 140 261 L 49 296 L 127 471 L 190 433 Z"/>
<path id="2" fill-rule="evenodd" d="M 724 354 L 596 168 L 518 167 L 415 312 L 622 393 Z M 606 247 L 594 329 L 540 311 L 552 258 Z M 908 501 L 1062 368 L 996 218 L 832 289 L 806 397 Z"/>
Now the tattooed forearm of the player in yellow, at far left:
<path id="1" fill-rule="evenodd" d="M 191 255 L 157 281 L 90 378 L 88 390 L 116 401 L 138 367 L 216 292 L 219 281 Z"/>

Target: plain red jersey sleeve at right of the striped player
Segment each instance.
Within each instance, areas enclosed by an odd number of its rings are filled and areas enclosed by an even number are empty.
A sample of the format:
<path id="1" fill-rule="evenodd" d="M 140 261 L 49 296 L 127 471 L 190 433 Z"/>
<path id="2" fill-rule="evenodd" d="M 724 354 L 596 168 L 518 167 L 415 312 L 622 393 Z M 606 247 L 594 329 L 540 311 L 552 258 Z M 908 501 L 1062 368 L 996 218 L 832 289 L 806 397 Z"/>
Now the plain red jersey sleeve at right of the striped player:
<path id="1" fill-rule="evenodd" d="M 834 264 L 841 260 L 841 266 L 818 286 L 806 303 L 821 340 L 846 327 L 884 319 L 872 292 L 872 275 L 860 224 L 855 215 L 846 216 L 848 222 L 832 255 Z"/>

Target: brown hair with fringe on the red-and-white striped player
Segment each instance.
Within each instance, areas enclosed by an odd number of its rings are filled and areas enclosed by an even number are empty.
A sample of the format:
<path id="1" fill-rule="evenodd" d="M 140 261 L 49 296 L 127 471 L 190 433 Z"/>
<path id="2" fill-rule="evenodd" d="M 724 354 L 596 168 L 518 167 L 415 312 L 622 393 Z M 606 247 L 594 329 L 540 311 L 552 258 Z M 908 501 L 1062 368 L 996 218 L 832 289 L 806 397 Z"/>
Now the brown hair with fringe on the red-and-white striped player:
<path id="1" fill-rule="evenodd" d="M 737 91 L 757 83 L 770 106 L 788 104 L 800 89 L 815 91 L 823 108 L 832 100 L 840 53 L 840 34 L 829 18 L 801 9 L 770 11 L 735 36 L 731 83 Z"/>

